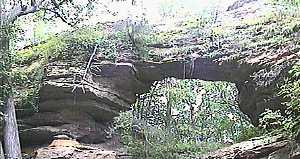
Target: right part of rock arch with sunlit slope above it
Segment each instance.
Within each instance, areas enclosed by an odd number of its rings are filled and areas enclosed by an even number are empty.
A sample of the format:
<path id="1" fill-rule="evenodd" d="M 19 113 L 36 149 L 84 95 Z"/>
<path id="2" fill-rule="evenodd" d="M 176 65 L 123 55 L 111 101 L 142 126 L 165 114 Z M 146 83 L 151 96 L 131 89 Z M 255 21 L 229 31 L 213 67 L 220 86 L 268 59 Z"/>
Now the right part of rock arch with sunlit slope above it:
<path id="1" fill-rule="evenodd" d="M 165 62 L 135 64 L 139 79 L 145 83 L 165 77 L 235 83 L 240 110 L 257 125 L 265 109 L 285 109 L 276 95 L 278 85 L 300 59 L 299 20 L 278 15 L 284 12 L 278 8 L 263 0 L 237 1 L 209 28 L 217 33 L 196 30 L 197 36 L 185 31 L 180 39 L 151 45 L 156 54 L 175 53 Z M 286 29 L 273 32 L 271 28 Z M 187 51 L 184 47 L 190 53 L 182 56 Z"/>

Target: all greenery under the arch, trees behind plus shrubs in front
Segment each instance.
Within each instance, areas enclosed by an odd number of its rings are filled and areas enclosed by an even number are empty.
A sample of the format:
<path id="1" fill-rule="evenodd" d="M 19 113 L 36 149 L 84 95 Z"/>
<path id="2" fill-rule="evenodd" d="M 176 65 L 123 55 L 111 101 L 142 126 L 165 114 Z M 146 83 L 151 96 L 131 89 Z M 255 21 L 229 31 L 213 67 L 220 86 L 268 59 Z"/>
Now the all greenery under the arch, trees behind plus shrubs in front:
<path id="1" fill-rule="evenodd" d="M 156 82 L 131 111 L 115 119 L 116 130 L 134 158 L 203 154 L 257 135 L 239 112 L 236 93 L 226 82 Z"/>

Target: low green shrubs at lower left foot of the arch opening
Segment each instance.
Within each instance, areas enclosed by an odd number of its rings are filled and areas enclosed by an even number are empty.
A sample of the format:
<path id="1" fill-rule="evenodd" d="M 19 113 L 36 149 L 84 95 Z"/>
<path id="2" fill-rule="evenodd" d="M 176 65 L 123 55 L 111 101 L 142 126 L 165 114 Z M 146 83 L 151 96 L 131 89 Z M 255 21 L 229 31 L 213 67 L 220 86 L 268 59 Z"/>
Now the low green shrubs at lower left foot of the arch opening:
<path id="1" fill-rule="evenodd" d="M 116 130 L 120 133 L 121 141 L 133 158 L 153 159 L 183 159 L 216 150 L 222 144 L 208 142 L 196 143 L 195 141 L 180 141 L 177 134 L 166 131 L 159 126 L 143 126 L 146 141 L 137 138 L 132 132 L 132 112 L 121 113 L 115 120 Z"/>

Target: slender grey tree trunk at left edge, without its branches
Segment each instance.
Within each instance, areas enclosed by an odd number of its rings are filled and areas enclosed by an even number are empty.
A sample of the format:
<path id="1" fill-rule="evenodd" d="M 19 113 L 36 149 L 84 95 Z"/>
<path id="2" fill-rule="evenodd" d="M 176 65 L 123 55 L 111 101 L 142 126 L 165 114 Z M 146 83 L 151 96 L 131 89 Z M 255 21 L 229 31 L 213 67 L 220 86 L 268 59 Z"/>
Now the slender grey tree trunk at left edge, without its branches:
<path id="1" fill-rule="evenodd" d="M 1 0 L 0 0 L 1 1 Z M 20 159 L 21 147 L 18 134 L 17 119 L 15 106 L 12 95 L 12 80 L 11 80 L 11 64 L 12 54 L 9 49 L 9 34 L 8 26 L 0 25 L 0 95 L 4 110 L 4 152 L 6 159 Z M 3 105 L 4 104 L 4 105 Z"/>

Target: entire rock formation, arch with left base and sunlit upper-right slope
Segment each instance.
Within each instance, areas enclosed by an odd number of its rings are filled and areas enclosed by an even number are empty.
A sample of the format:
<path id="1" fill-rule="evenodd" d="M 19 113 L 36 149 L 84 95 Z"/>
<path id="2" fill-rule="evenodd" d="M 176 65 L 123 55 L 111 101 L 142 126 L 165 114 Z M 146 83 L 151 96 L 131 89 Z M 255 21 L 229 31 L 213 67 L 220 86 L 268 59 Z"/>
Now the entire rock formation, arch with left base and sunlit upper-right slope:
<path id="1" fill-rule="evenodd" d="M 262 1 L 247 1 L 224 12 L 217 19 L 220 22 L 216 26 L 225 21 L 225 16 L 233 20 L 229 23 L 235 23 L 242 21 L 238 15 L 259 16 L 265 8 L 272 7 L 264 5 Z M 272 9 L 270 12 L 273 12 Z M 110 121 L 120 111 L 128 110 L 135 102 L 136 94 L 146 92 L 154 81 L 166 77 L 235 83 L 239 90 L 241 111 L 257 124 L 259 114 L 266 108 L 284 108 L 276 96 L 276 86 L 286 77 L 287 70 L 299 60 L 300 48 L 294 33 L 300 27 L 298 24 L 292 25 L 292 31 L 283 42 L 255 43 L 254 46 L 247 44 L 266 36 L 264 33 L 267 30 L 264 28 L 268 25 L 276 27 L 284 24 L 284 18 L 264 21 L 263 26 L 241 24 L 231 26 L 230 35 L 222 37 L 187 33 L 173 40 L 172 44 L 149 45 L 157 54 L 193 47 L 188 55 L 180 54 L 182 50 L 179 50 L 180 56 L 176 54 L 159 62 L 129 60 L 128 63 L 114 63 L 94 60 L 88 70 L 85 70 L 84 60 L 79 64 L 72 64 L 72 61 L 49 63 L 40 90 L 39 112 L 22 119 L 21 125 L 26 129 L 21 130 L 21 139 L 23 143 L 45 143 L 55 135 L 65 134 L 80 142 L 103 142 L 107 126 L 100 123 Z M 279 36 L 279 33 L 274 36 Z M 244 39 L 236 40 L 239 37 Z"/>

